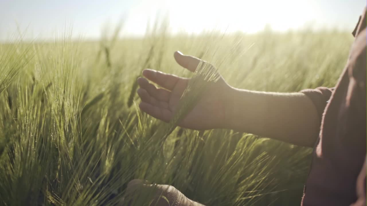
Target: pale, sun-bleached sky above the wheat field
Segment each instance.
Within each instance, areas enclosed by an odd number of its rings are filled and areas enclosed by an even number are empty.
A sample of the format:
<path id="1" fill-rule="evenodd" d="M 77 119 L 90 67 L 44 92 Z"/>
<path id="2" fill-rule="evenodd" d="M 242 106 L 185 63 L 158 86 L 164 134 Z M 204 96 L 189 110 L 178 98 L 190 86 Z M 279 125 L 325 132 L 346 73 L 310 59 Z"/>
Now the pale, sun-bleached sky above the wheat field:
<path id="1" fill-rule="evenodd" d="M 304 25 L 353 30 L 365 0 L 0 0 L 0 40 L 17 25 L 29 40 L 52 39 L 73 28 L 73 37 L 99 38 L 102 27 L 124 19 L 123 35 L 142 35 L 148 19 L 167 14 L 170 32 L 204 29 L 257 32 Z"/>

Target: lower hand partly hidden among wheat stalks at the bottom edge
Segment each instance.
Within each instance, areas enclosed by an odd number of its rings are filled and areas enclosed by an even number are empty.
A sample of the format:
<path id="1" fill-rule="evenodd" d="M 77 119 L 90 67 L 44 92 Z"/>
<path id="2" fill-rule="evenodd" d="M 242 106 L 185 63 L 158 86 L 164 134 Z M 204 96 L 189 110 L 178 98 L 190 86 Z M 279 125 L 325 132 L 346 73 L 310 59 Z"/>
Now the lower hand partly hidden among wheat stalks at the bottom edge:
<path id="1" fill-rule="evenodd" d="M 149 199 L 150 206 L 204 206 L 190 200 L 171 185 L 143 184 L 143 181 L 138 179 L 131 180 L 127 184 L 126 196 L 137 198 L 139 195 L 144 195 L 146 197 L 147 193 L 153 194 L 153 199 Z M 130 200 L 127 205 L 131 206 L 132 204 L 134 204 L 134 200 Z"/>

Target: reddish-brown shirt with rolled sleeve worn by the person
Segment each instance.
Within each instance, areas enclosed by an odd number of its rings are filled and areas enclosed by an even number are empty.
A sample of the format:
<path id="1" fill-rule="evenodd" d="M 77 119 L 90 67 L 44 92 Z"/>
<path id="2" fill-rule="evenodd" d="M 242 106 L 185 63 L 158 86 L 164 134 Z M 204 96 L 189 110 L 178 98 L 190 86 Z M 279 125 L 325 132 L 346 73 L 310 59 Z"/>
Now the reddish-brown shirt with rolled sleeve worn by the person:
<path id="1" fill-rule="evenodd" d="M 306 89 L 321 118 L 303 206 L 366 206 L 366 7 L 335 88 Z"/>

